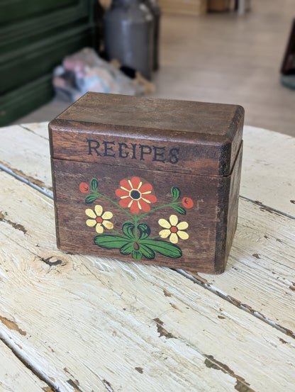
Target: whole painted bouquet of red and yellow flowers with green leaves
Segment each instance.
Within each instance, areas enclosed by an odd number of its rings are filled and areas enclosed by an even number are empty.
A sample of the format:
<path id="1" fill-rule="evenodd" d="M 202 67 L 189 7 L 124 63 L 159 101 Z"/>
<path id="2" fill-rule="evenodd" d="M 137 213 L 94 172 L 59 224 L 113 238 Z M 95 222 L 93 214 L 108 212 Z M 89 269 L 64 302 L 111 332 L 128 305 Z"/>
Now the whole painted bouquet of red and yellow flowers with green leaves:
<path id="1" fill-rule="evenodd" d="M 155 213 L 160 208 L 173 208 L 175 213 L 186 215 L 187 210 L 194 207 L 194 201 L 191 198 L 181 198 L 181 191 L 177 186 L 171 187 L 170 196 L 165 192 L 168 200 L 162 205 L 157 203 L 155 208 L 152 208 L 152 203 L 157 201 L 157 197 L 152 194 L 152 185 L 135 176 L 121 179 L 120 187 L 116 189 L 119 201 L 118 199 L 112 200 L 108 194 L 104 194 L 102 192 L 104 183 L 102 182 L 99 186 L 99 180 L 94 177 L 89 182 L 81 182 L 79 190 L 85 194 L 85 203 L 94 206 L 92 209 L 87 208 L 85 213 L 87 226 L 96 230 L 95 245 L 103 249 L 118 250 L 124 257 L 130 255 L 138 262 L 143 257 L 148 260 L 155 259 L 157 254 L 172 259 L 182 257 L 182 249 L 177 243 L 179 238 L 182 240 L 189 238 L 187 233 L 189 223 L 179 221 L 178 215 L 168 215 L 168 220 L 157 218 L 162 229 L 158 235 L 155 235 L 157 229 L 153 230 L 152 227 L 155 218 L 150 223 L 147 220 L 148 214 Z M 101 200 L 102 205 L 94 204 L 97 199 Z M 121 229 L 117 227 L 114 230 L 114 225 L 111 222 L 113 213 L 104 211 L 104 200 L 108 202 L 107 205 L 113 203 L 113 206 L 120 211 L 120 221 L 117 225 L 120 225 Z M 130 212 L 127 208 L 130 208 Z M 128 220 L 121 223 L 121 216 L 124 215 L 128 215 Z M 147 220 L 147 223 L 140 222 L 143 218 Z M 105 229 L 110 231 L 104 233 Z"/>

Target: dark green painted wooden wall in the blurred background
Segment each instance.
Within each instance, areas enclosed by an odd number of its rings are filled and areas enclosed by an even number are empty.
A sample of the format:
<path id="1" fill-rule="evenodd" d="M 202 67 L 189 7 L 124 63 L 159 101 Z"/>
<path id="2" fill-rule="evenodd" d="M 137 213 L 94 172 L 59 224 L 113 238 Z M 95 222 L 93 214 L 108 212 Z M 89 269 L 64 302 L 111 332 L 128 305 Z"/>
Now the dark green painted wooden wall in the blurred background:
<path id="1" fill-rule="evenodd" d="M 52 70 L 65 55 L 95 47 L 95 1 L 0 2 L 0 126 L 52 98 Z"/>

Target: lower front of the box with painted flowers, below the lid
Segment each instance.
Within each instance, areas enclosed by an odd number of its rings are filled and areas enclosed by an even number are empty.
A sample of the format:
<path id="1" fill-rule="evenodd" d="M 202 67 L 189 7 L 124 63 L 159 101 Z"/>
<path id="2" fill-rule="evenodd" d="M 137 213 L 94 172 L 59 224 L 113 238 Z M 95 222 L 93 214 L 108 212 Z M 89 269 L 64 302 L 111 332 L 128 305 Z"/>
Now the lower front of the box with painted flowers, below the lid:
<path id="1" fill-rule="evenodd" d="M 221 177 L 52 159 L 62 250 L 186 271 L 216 269 Z"/>

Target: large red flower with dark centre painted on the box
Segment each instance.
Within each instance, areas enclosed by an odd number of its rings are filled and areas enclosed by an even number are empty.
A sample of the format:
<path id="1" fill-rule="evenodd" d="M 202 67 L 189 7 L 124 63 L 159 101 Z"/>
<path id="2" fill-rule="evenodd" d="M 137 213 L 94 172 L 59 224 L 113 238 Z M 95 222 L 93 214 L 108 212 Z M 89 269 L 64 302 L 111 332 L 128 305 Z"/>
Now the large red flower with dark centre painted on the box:
<path id="1" fill-rule="evenodd" d="M 120 188 L 116 189 L 116 195 L 121 198 L 119 204 L 123 208 L 130 208 L 131 213 L 139 213 L 143 210 L 145 213 L 150 211 L 150 203 L 155 203 L 157 198 L 152 195 L 152 185 L 143 184 L 140 178 L 123 179 L 120 182 Z"/>

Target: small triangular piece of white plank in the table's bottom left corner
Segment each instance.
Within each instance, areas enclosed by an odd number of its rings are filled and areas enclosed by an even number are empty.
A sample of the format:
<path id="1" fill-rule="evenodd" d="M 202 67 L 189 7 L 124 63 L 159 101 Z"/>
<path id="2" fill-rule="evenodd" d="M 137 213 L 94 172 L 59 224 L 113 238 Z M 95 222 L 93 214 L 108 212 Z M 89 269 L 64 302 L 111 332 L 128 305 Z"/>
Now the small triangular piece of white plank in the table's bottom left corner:
<path id="1" fill-rule="evenodd" d="M 53 392 L 0 340 L 0 390 L 3 392 Z"/>

